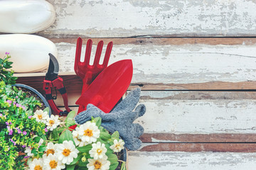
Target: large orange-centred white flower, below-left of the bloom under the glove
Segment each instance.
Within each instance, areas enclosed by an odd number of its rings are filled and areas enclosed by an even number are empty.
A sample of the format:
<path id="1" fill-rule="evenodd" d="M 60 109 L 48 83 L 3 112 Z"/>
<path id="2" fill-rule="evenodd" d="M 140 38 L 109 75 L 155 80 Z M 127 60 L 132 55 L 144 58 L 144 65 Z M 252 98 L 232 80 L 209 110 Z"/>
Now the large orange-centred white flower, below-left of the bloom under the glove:
<path id="1" fill-rule="evenodd" d="M 57 147 L 57 157 L 63 164 L 70 164 L 73 162 L 73 159 L 78 157 L 78 152 L 78 149 L 75 148 L 75 145 L 71 140 L 65 140 Z"/>

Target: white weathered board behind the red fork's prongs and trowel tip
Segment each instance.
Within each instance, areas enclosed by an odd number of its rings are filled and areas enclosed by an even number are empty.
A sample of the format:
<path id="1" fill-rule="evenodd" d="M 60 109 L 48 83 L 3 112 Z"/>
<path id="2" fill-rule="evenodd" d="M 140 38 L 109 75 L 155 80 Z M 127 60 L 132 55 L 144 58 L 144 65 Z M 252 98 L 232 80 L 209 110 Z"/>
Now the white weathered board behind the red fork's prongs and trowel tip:
<path id="1" fill-rule="evenodd" d="M 56 46 L 60 72 L 74 72 L 75 44 L 60 42 Z M 96 45 L 93 45 L 93 57 L 95 50 Z M 104 53 L 105 48 L 102 58 Z M 85 45 L 82 56 L 84 54 Z M 114 45 L 110 64 L 124 59 L 132 59 L 133 62 L 132 83 L 190 84 L 256 80 L 256 45 Z"/>

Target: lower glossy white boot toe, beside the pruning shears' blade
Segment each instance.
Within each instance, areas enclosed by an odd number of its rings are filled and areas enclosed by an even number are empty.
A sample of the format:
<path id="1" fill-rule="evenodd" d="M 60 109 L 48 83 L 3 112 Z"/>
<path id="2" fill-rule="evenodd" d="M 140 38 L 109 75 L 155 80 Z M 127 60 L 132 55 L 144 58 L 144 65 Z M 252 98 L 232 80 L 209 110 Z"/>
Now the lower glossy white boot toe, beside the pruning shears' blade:
<path id="1" fill-rule="evenodd" d="M 38 72 L 46 69 L 50 57 L 48 53 L 58 57 L 55 44 L 38 35 L 8 34 L 0 35 L 0 57 L 5 53 L 11 55 L 15 72 Z"/>

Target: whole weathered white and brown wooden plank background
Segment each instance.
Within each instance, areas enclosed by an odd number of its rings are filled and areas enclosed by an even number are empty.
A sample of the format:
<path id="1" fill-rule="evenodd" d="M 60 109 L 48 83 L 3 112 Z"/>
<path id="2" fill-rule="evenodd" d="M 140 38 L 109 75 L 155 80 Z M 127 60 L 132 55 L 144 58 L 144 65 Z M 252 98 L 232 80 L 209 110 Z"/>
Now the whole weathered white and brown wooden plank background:
<path id="1" fill-rule="evenodd" d="M 129 169 L 255 169 L 256 1 L 48 1 L 56 21 L 37 35 L 58 47 L 73 110 L 78 36 L 83 53 L 88 38 L 92 53 L 112 40 L 110 64 L 133 60 L 129 90 L 142 89 L 147 111 Z M 44 74 L 18 74 L 18 82 L 42 92 Z"/>

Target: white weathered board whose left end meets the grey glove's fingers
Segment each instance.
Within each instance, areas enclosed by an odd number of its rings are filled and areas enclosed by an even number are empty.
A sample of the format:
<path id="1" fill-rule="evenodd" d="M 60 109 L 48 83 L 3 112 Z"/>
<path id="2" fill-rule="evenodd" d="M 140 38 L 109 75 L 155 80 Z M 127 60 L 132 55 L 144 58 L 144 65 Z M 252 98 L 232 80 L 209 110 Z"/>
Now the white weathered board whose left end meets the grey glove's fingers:
<path id="1" fill-rule="evenodd" d="M 145 133 L 255 133 L 255 100 L 141 100 Z"/>

